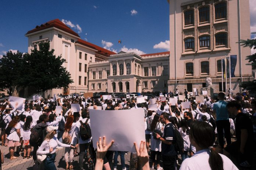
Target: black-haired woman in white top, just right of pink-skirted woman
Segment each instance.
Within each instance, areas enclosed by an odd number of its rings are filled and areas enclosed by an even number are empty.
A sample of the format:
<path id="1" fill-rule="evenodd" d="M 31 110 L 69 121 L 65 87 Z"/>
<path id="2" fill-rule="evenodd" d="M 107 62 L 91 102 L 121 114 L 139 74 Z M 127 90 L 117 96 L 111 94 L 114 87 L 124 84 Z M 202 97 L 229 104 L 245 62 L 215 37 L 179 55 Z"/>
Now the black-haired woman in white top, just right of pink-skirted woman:
<path id="1" fill-rule="evenodd" d="M 26 117 L 26 121 L 23 126 L 23 143 L 24 143 L 24 156 L 23 159 L 26 157 L 29 159 L 32 156 L 30 156 L 31 153 L 31 146 L 29 144 L 29 139 L 30 139 L 30 134 L 31 134 L 31 129 L 36 125 L 35 122 L 32 122 L 32 116 Z M 26 156 L 26 153 L 28 151 L 28 156 Z"/>

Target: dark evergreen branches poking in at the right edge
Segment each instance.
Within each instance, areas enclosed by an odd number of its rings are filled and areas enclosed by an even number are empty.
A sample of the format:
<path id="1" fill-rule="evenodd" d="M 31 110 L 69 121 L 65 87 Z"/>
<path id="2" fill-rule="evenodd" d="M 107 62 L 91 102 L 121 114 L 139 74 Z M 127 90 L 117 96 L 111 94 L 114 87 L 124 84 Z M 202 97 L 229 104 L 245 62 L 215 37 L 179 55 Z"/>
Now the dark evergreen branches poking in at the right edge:
<path id="1" fill-rule="evenodd" d="M 256 39 L 253 40 L 241 40 L 240 41 L 241 45 L 243 47 L 250 47 L 251 49 L 256 49 Z M 248 65 L 252 66 L 252 69 L 256 69 L 256 53 L 246 56 L 246 60 L 249 60 Z M 248 90 L 250 93 L 256 93 L 256 80 L 249 81 L 249 82 L 244 82 L 242 83 L 241 87 L 243 89 Z"/>

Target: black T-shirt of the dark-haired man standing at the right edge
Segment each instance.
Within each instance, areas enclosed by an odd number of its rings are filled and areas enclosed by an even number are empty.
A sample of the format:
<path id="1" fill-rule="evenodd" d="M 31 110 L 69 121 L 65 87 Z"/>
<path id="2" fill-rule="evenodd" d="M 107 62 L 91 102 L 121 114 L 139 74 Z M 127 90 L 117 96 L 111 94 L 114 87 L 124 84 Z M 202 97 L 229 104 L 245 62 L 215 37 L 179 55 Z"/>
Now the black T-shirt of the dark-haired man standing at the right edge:
<path id="1" fill-rule="evenodd" d="M 252 146 L 251 144 L 253 143 L 253 126 L 252 126 L 252 121 L 249 118 L 248 115 L 244 113 L 239 113 L 235 117 L 235 133 L 237 137 L 237 142 L 240 144 L 241 143 L 241 129 L 246 129 L 248 132 L 248 138 L 246 141 L 246 146 Z"/>

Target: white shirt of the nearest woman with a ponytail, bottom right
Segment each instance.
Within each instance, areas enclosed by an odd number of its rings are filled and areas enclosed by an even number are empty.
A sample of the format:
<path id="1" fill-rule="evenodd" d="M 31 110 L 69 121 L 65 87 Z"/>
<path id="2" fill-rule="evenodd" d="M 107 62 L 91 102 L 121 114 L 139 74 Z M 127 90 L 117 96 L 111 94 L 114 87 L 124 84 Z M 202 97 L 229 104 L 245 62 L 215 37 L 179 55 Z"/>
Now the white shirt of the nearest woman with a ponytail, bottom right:
<path id="1" fill-rule="evenodd" d="M 209 149 L 203 149 L 196 152 L 191 158 L 185 159 L 179 170 L 211 170 L 209 165 Z M 238 170 L 238 168 L 232 163 L 227 156 L 219 154 L 223 160 L 224 170 Z"/>

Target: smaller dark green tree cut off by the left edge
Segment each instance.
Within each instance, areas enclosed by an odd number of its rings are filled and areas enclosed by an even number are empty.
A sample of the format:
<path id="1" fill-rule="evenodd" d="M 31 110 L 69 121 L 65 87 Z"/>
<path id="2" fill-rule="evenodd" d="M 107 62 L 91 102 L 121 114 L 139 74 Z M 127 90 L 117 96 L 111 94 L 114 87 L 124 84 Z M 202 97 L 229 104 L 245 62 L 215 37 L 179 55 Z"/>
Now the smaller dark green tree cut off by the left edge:
<path id="1" fill-rule="evenodd" d="M 6 55 L 3 55 L 0 59 L 0 90 L 7 90 L 11 95 L 13 87 L 21 81 L 22 69 L 21 52 L 8 51 Z"/>

